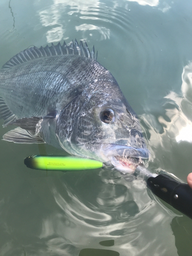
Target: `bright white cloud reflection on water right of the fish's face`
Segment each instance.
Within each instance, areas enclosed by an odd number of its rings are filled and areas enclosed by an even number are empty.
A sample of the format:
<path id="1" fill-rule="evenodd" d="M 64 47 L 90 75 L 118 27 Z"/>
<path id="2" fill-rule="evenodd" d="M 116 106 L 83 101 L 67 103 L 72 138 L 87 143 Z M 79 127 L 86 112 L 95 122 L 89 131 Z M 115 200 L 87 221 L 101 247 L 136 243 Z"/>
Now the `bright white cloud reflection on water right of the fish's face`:
<path id="1" fill-rule="evenodd" d="M 161 146 L 170 151 L 170 141 L 192 142 L 192 65 L 189 63 L 183 68 L 181 94 L 171 91 L 164 97 L 172 107 L 166 107 L 165 115 L 158 119 L 152 114 L 142 116 L 144 122 L 150 127 L 151 145 Z M 163 132 L 160 132 L 163 127 Z"/>

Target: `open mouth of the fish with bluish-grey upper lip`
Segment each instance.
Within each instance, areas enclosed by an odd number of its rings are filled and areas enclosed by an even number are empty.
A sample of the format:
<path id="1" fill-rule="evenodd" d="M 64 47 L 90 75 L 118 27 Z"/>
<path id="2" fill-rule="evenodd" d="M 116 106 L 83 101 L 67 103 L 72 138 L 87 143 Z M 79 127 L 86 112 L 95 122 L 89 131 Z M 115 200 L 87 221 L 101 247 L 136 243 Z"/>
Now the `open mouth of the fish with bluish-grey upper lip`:
<path id="1" fill-rule="evenodd" d="M 148 159 L 149 156 L 147 148 L 135 148 L 117 144 L 106 146 L 104 154 L 115 169 L 124 174 L 133 174 L 137 166 Z"/>

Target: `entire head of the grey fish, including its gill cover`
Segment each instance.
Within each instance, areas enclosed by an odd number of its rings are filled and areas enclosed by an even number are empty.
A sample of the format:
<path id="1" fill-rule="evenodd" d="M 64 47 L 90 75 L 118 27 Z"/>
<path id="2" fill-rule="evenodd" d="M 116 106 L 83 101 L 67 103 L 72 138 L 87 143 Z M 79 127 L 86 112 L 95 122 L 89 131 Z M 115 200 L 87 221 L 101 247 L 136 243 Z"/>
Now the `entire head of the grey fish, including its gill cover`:
<path id="1" fill-rule="evenodd" d="M 81 100 L 79 97 L 75 105 L 71 109 L 78 108 L 76 114 L 60 114 L 58 119 L 56 134 L 68 153 L 112 164 L 120 172 L 130 174 L 139 162 L 148 159 L 141 124 L 120 89 L 110 94 L 100 90 Z"/>

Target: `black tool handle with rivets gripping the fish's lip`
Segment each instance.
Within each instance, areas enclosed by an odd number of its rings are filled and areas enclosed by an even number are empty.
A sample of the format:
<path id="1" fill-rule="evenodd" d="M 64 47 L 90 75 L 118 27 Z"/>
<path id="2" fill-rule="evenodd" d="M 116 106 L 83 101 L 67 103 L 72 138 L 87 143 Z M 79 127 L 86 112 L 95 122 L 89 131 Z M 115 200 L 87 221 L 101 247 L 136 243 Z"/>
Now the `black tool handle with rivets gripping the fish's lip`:
<path id="1" fill-rule="evenodd" d="M 147 186 L 157 197 L 192 219 L 192 189 L 188 184 L 160 174 L 148 178 Z"/>

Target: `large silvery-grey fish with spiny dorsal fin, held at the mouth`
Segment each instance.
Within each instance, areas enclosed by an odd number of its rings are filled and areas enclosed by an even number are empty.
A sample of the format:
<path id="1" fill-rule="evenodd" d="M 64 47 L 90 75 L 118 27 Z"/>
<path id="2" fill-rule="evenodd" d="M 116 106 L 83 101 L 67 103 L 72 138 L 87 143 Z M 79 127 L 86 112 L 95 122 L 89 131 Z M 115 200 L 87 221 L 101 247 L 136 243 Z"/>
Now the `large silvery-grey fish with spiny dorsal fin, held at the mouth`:
<path id="1" fill-rule="evenodd" d="M 109 70 L 86 41 L 31 47 L 0 71 L 3 139 L 48 143 L 70 155 L 132 174 L 149 152 L 142 125 Z"/>

